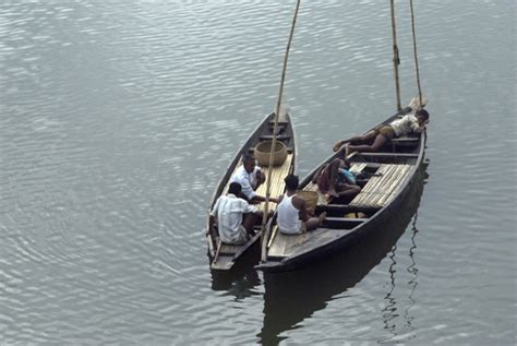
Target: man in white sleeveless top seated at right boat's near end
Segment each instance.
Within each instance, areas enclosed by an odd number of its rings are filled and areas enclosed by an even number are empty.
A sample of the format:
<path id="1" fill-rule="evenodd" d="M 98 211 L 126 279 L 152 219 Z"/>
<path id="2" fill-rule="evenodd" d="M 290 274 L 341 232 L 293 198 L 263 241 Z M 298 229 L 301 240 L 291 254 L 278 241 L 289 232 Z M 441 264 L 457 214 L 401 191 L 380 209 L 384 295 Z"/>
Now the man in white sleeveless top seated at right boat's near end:
<path id="1" fill-rule="evenodd" d="M 298 176 L 289 175 L 284 181 L 287 192 L 279 198 L 276 218 L 280 232 L 299 235 L 321 226 L 326 213 L 320 214 L 318 217 L 311 217 L 309 215 L 305 200 L 297 195 Z"/>

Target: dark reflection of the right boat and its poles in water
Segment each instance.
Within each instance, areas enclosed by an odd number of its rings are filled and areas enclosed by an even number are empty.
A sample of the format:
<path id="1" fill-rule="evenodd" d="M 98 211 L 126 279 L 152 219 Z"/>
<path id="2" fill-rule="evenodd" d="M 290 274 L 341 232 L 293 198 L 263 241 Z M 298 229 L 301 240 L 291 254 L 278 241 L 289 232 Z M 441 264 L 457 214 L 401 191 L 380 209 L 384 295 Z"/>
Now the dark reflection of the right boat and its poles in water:
<path id="1" fill-rule="evenodd" d="M 346 291 L 358 284 L 386 254 L 394 249 L 397 239 L 408 228 L 416 216 L 423 186 L 428 175 L 425 160 L 414 177 L 406 200 L 396 217 L 392 217 L 384 229 L 377 229 L 359 238 L 357 243 L 346 252 L 328 258 L 325 261 L 313 263 L 302 270 L 285 273 L 264 273 L 264 324 L 257 335 L 264 345 L 276 345 L 285 337 L 280 334 L 296 329 L 297 324 L 315 311 L 322 310 L 334 296 Z M 416 218 L 413 218 L 416 220 Z M 413 237 L 416 232 L 414 225 Z M 414 247 L 414 239 L 412 238 Z M 411 267 L 408 271 L 417 273 L 417 264 L 412 258 L 414 248 L 411 248 Z M 393 264 L 395 263 L 392 259 Z M 395 287 L 395 271 L 390 266 L 392 287 L 385 299 L 389 300 Z M 412 287 L 417 285 L 413 275 Z M 413 289 L 411 290 L 412 295 Z M 411 297 L 410 297 L 411 299 Z M 389 309 L 389 308 L 387 308 Z M 406 314 L 409 320 L 411 318 Z M 386 317 L 386 311 L 384 311 Z M 385 320 L 389 330 L 389 322 Z M 407 323 L 410 324 L 410 321 Z"/>

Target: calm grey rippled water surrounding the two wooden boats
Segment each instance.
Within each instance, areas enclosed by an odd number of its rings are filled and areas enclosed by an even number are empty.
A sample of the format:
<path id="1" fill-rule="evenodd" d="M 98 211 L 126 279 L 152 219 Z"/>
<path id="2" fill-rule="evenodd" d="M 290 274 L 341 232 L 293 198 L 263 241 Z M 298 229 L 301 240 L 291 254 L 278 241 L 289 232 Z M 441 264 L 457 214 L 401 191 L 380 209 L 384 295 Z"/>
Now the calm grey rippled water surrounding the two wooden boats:
<path id="1" fill-rule="evenodd" d="M 0 4 L 0 344 L 515 344 L 513 0 L 416 2 L 426 165 L 378 238 L 305 271 L 211 274 L 209 198 L 275 106 L 293 8 Z M 300 175 L 394 112 L 388 10 L 302 3 Z"/>

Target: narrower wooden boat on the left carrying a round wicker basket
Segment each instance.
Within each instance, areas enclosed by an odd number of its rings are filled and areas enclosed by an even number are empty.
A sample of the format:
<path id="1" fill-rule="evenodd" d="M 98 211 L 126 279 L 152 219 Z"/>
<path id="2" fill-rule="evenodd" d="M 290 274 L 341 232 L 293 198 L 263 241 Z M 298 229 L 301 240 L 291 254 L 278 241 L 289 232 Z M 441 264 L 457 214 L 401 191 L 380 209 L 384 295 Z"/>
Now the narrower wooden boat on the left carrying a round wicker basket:
<path id="1" fill-rule="evenodd" d="M 264 120 L 258 124 L 258 127 L 253 131 L 250 138 L 245 141 L 242 147 L 237 152 L 236 156 L 231 160 L 225 176 L 220 179 L 217 188 L 212 196 L 211 207 L 215 205 L 217 199 L 228 190 L 229 180 L 231 175 L 236 171 L 238 167 L 242 165 L 242 156 L 247 153 L 253 153 L 254 147 L 264 141 L 270 141 L 273 139 L 274 130 L 274 117 L 275 114 L 270 114 L 264 118 Z M 297 167 L 297 157 L 296 157 L 296 135 L 290 119 L 290 115 L 287 109 L 280 108 L 279 120 L 277 127 L 277 141 L 284 143 L 287 147 L 287 158 L 280 166 L 273 167 L 272 171 L 272 181 L 270 181 L 270 196 L 276 198 L 281 195 L 285 191 L 284 178 L 296 171 Z M 262 170 L 268 177 L 267 167 L 262 167 Z M 263 183 L 257 189 L 257 194 L 266 195 L 266 183 Z M 258 210 L 264 211 L 265 203 L 257 205 Z M 269 203 L 268 210 L 274 212 L 276 204 Z M 209 212 L 209 211 L 208 211 Z M 260 258 L 260 239 L 261 239 L 261 225 L 255 226 L 256 235 L 251 238 L 247 243 L 242 246 L 231 246 L 220 241 L 217 226 L 214 229 L 209 229 L 209 223 L 206 231 L 206 241 L 208 243 L 208 256 L 211 260 L 211 269 L 215 271 L 229 271 L 233 265 L 244 258 L 248 253 L 255 252 L 255 263 Z"/>

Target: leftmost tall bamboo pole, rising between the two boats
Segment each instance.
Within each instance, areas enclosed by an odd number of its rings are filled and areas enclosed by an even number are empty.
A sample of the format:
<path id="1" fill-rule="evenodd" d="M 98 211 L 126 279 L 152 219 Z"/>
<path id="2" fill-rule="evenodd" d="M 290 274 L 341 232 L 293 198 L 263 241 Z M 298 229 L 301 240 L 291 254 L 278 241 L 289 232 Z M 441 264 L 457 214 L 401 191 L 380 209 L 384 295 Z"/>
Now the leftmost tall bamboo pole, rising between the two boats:
<path id="1" fill-rule="evenodd" d="M 281 69 L 281 77 L 280 77 L 280 90 L 278 92 L 278 102 L 276 104 L 276 109 L 275 109 L 275 124 L 273 127 L 273 142 L 272 142 L 272 151 L 269 153 L 269 165 L 267 168 L 267 183 L 266 183 L 266 201 L 264 205 L 264 215 L 262 217 L 262 248 L 264 248 L 264 244 L 267 242 L 267 239 L 265 239 L 265 226 L 267 222 L 267 214 L 269 213 L 269 198 L 270 198 L 270 184 L 272 184 L 272 171 L 273 171 L 273 157 L 274 153 L 276 150 L 276 133 L 278 129 L 278 118 L 280 115 L 280 105 L 281 105 L 281 95 L 284 93 L 284 81 L 286 80 L 286 70 L 287 70 L 287 60 L 289 58 L 289 49 L 291 47 L 291 41 L 292 41 L 292 36 L 294 34 L 294 25 L 297 24 L 297 17 L 298 17 L 298 10 L 300 9 L 300 2 L 301 0 L 297 1 L 297 9 L 294 10 L 294 14 L 292 16 L 292 24 L 291 24 L 291 31 L 289 34 L 289 39 L 287 41 L 287 47 L 286 47 L 286 53 L 284 55 L 284 67 Z M 261 260 L 264 262 L 266 260 L 266 253 L 265 251 L 262 251 Z"/>

